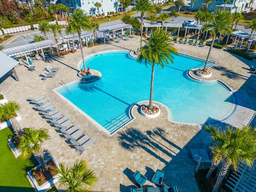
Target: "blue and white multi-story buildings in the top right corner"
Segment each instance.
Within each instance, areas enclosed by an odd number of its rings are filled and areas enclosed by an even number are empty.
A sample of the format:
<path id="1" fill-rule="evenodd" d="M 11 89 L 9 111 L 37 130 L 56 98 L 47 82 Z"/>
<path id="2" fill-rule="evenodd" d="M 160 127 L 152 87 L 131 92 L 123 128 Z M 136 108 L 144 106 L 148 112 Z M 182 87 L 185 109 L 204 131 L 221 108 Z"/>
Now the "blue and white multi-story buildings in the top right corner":
<path id="1" fill-rule="evenodd" d="M 193 8 L 192 8 L 193 6 Z M 224 10 L 225 0 L 212 0 L 208 5 L 206 0 L 191 0 L 190 10 L 199 10 L 202 7 L 208 6 L 208 11 L 214 13 L 215 10 Z M 242 12 L 248 13 L 250 9 L 256 8 L 256 0 L 230 0 L 226 4 L 226 11 L 230 13 Z"/>

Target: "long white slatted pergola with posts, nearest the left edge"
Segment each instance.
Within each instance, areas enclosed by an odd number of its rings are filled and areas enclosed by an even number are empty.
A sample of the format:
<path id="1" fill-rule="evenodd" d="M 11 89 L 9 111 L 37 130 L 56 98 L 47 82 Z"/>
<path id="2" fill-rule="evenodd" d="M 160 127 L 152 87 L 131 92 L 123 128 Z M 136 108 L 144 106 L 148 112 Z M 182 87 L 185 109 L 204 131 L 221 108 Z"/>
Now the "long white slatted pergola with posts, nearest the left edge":
<path id="1" fill-rule="evenodd" d="M 2 52 L 10 57 L 15 57 L 17 55 L 24 54 L 26 57 L 26 60 L 28 60 L 27 53 L 32 52 L 32 51 L 36 51 L 38 53 L 38 50 L 41 50 L 42 57 L 45 61 L 43 49 L 44 48 L 52 49 L 52 46 L 56 46 L 58 56 L 60 56 L 57 43 L 53 42 L 52 40 L 43 40 L 43 41 L 24 44 L 24 45 L 20 45 L 20 46 L 11 47 L 11 48 L 5 48 L 2 50 Z"/>

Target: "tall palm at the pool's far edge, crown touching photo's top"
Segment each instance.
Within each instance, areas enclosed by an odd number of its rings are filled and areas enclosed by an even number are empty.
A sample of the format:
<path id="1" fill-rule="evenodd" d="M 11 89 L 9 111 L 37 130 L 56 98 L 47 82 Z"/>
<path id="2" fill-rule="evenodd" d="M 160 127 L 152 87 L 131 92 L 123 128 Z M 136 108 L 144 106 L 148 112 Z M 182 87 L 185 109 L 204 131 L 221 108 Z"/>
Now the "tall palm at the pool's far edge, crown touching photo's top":
<path id="1" fill-rule="evenodd" d="M 151 0 L 137 0 L 133 3 L 135 4 L 135 7 L 132 8 L 132 11 L 140 12 L 141 16 L 140 47 L 142 47 L 143 17 L 146 13 L 151 14 L 152 12 L 155 12 L 155 6 Z"/>

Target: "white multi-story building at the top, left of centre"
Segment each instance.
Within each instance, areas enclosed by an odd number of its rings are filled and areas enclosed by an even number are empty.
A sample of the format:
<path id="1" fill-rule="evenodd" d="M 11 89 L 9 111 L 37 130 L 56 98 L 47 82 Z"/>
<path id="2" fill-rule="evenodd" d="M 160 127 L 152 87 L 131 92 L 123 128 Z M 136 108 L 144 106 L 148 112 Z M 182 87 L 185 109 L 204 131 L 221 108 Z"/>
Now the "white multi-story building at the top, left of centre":
<path id="1" fill-rule="evenodd" d="M 102 6 L 99 8 L 99 13 L 94 3 L 100 3 Z M 76 9 L 82 9 L 84 13 L 91 16 L 98 14 L 107 15 L 108 12 L 116 12 L 119 1 L 116 0 L 61 0 L 61 3 L 70 8 L 70 13 Z"/>

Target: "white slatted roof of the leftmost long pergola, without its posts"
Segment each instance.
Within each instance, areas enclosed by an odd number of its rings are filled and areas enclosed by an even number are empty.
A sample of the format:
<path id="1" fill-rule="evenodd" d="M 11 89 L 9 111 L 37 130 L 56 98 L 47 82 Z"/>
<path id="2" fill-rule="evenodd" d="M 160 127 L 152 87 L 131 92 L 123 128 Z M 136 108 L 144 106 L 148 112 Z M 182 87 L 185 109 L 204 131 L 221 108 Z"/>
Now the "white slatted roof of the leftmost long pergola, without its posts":
<path id="1" fill-rule="evenodd" d="M 44 40 L 44 41 L 28 43 L 28 44 L 24 44 L 16 47 L 6 48 L 6 49 L 3 49 L 2 52 L 6 55 L 9 55 L 9 54 L 16 55 L 24 52 L 39 50 L 41 48 L 47 48 L 50 46 L 56 46 L 56 42 L 53 42 L 52 40 Z"/>

